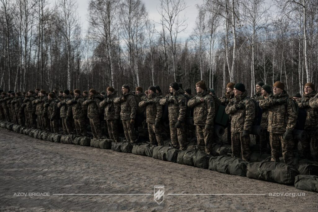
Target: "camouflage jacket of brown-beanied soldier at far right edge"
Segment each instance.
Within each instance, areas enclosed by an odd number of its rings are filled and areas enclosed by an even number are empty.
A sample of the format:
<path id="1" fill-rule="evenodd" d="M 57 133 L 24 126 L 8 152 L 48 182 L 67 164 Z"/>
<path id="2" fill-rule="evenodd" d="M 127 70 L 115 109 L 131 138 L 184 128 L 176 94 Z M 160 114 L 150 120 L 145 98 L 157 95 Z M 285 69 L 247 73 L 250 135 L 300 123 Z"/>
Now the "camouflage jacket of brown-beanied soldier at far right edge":
<path id="1" fill-rule="evenodd" d="M 317 93 L 315 91 L 311 92 L 311 94 L 304 94 L 298 103 L 298 107 L 306 110 L 306 122 L 305 122 L 305 130 L 315 130 L 318 128 L 318 108 L 312 108 L 310 106 L 305 106 L 305 103 L 309 103 L 309 100 L 315 97 Z"/>

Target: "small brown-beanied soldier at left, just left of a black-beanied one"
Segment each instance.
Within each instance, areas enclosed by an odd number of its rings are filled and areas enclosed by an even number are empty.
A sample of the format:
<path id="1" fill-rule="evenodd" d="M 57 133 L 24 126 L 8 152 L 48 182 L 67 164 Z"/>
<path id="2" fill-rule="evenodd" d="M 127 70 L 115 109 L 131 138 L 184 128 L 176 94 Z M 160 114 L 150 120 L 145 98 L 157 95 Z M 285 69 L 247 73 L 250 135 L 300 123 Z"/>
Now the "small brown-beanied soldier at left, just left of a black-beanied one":
<path id="1" fill-rule="evenodd" d="M 50 120 L 51 132 L 55 133 L 59 132 L 58 102 L 59 100 L 55 98 L 55 95 L 53 93 L 49 93 L 48 102 L 45 103 L 45 107 L 48 108 L 47 114 Z"/>

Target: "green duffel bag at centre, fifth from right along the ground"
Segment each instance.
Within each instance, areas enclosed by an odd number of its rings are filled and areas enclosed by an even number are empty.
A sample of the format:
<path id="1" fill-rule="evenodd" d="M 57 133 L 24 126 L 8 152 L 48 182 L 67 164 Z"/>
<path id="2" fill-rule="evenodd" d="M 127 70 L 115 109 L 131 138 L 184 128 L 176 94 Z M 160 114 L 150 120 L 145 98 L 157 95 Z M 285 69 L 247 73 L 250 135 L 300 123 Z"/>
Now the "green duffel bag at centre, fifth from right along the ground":
<path id="1" fill-rule="evenodd" d="M 154 159 L 176 163 L 179 152 L 180 150 L 173 148 L 172 145 L 156 146 L 153 150 L 152 157 Z"/>

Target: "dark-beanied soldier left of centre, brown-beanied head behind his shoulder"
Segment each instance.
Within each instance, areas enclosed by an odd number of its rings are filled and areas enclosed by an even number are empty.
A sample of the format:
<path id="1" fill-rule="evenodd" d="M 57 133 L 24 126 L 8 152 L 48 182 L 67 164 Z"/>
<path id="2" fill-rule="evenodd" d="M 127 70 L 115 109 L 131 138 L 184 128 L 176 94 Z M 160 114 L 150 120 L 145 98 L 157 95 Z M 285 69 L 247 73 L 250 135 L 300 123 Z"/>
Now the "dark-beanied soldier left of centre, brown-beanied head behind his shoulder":
<path id="1" fill-rule="evenodd" d="M 135 135 L 135 118 L 137 112 L 137 103 L 134 94 L 130 91 L 128 85 L 123 85 L 121 88 L 122 95 L 114 100 L 114 103 L 120 103 L 120 116 L 124 133 L 128 142 L 136 142 Z"/>

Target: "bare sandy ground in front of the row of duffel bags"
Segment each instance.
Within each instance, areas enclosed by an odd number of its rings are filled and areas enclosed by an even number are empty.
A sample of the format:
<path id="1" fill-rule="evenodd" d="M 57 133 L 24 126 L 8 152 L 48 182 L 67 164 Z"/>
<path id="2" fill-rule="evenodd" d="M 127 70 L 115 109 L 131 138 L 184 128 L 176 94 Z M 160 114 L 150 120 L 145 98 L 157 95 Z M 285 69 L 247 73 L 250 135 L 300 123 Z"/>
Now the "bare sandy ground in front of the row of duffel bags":
<path id="1" fill-rule="evenodd" d="M 0 211 L 318 211 L 318 194 L 293 186 L 129 153 L 51 143 L 2 128 L 0 135 Z M 155 185 L 165 186 L 160 205 L 154 201 Z M 32 192 L 50 196 L 29 196 Z M 285 196 L 269 196 L 278 192 Z M 301 193 L 305 196 L 297 196 Z"/>

